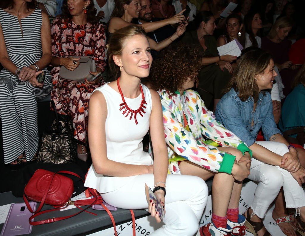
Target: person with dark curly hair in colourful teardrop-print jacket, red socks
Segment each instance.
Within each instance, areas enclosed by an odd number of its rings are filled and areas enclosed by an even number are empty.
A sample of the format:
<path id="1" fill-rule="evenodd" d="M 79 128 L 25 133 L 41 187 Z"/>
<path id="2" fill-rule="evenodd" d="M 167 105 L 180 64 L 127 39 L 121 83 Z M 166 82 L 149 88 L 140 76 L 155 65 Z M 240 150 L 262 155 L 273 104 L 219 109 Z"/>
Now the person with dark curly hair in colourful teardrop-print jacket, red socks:
<path id="1" fill-rule="evenodd" d="M 201 60 L 199 50 L 178 44 L 163 50 L 152 64 L 151 83 L 161 98 L 169 171 L 203 180 L 214 176 L 212 222 L 198 235 L 231 235 L 232 230 L 244 235 L 245 217 L 238 214 L 238 202 L 242 180 L 250 173 L 251 152 L 190 89 Z"/>

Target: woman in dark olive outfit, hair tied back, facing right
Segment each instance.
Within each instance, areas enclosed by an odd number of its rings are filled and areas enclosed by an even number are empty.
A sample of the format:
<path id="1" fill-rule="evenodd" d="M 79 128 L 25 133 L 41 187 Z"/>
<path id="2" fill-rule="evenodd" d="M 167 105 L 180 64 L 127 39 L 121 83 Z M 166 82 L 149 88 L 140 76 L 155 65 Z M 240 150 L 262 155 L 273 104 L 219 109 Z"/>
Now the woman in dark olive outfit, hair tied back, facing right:
<path id="1" fill-rule="evenodd" d="M 233 71 L 230 63 L 236 60 L 236 56 L 218 55 L 217 43 L 213 37 L 215 18 L 211 12 L 199 12 L 194 25 L 196 30 L 186 32 L 181 42 L 196 45 L 204 52 L 202 64 L 205 67 L 199 71 L 198 93 L 206 107 L 213 111 L 223 95 L 222 90 L 230 81 L 230 73 Z"/>

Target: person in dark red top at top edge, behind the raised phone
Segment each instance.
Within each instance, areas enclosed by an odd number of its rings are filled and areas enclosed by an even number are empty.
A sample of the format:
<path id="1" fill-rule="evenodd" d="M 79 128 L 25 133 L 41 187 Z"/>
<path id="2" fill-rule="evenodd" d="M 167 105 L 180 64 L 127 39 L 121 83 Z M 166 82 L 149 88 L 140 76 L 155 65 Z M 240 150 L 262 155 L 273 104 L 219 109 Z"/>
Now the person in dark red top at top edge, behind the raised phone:
<path id="1" fill-rule="evenodd" d="M 168 19 L 175 15 L 175 7 L 171 0 L 152 0 L 152 13 L 155 17 Z"/>

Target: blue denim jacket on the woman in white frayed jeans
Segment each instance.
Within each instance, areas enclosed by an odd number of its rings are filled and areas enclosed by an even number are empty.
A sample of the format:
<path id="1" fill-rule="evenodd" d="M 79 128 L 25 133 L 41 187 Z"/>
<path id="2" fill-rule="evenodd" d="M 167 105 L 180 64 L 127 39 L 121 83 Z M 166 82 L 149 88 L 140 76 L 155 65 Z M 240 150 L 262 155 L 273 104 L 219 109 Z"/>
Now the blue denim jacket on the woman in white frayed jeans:
<path id="1" fill-rule="evenodd" d="M 260 128 L 264 133 L 265 140 L 269 141 L 274 134 L 282 134 L 274 122 L 273 106 L 270 93 L 259 94 L 257 107 L 253 112 L 254 99 L 249 97 L 246 101 L 240 100 L 239 92 L 232 88 L 217 104 L 216 119 L 224 127 L 235 133 L 239 138 L 251 146 L 257 137 Z M 251 127 L 252 119 L 254 125 Z"/>

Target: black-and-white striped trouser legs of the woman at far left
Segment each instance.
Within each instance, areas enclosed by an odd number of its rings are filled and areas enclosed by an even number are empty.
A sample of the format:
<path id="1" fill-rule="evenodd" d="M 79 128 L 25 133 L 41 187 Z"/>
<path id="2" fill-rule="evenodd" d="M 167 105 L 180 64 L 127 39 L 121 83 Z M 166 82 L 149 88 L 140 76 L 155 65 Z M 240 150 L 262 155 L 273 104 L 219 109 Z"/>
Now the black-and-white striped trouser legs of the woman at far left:
<path id="1" fill-rule="evenodd" d="M 30 161 L 38 149 L 37 100 L 52 91 L 51 78 L 42 89 L 30 82 L 0 78 L 0 117 L 2 122 L 4 163 L 25 153 Z"/>

